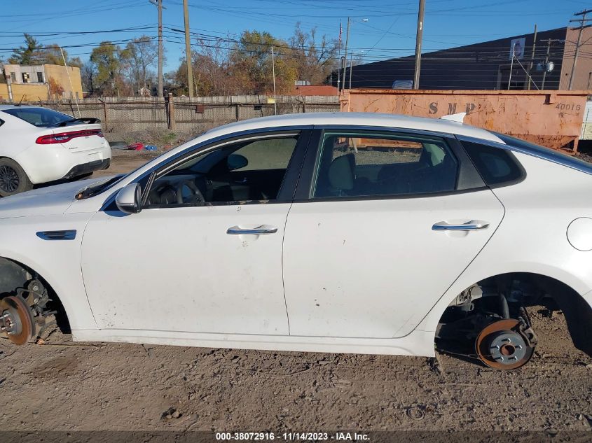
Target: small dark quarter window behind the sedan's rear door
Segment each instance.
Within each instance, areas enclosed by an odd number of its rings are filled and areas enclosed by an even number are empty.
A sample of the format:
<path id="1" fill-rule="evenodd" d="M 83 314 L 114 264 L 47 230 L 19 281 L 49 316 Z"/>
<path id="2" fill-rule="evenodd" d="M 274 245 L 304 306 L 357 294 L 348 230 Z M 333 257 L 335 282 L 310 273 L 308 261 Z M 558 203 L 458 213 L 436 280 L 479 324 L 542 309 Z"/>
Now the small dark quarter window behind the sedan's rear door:
<path id="1" fill-rule="evenodd" d="M 488 186 L 514 183 L 525 175 L 518 160 L 507 150 L 470 141 L 463 141 L 462 146 Z"/>

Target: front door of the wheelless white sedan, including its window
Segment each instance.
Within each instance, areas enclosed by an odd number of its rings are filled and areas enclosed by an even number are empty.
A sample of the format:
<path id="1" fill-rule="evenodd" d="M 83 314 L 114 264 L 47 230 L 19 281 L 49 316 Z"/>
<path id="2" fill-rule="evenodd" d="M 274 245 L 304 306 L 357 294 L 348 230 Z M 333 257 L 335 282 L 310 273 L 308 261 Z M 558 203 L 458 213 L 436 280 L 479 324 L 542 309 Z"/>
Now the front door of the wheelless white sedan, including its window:
<path id="1" fill-rule="evenodd" d="M 287 335 L 282 180 L 298 138 L 164 164 L 140 213 L 93 216 L 81 260 L 99 328 Z"/>

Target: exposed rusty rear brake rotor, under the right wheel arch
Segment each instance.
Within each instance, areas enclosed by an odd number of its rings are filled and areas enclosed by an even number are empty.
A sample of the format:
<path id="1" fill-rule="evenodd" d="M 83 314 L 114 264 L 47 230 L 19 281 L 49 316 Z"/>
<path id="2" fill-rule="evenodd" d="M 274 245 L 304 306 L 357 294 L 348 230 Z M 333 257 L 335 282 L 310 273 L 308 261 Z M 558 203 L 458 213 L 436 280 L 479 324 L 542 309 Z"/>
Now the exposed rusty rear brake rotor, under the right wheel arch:
<path id="1" fill-rule="evenodd" d="M 528 363 L 535 346 L 521 333 L 520 325 L 520 321 L 509 318 L 483 328 L 475 342 L 479 360 L 500 370 L 513 370 Z"/>

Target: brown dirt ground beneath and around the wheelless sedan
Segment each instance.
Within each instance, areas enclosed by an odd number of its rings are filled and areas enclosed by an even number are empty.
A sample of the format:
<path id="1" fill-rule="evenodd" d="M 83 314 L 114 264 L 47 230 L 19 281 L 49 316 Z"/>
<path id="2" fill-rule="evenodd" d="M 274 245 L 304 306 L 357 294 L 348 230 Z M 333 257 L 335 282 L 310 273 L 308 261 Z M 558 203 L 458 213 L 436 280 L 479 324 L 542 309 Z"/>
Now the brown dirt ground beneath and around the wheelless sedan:
<path id="1" fill-rule="evenodd" d="M 113 154 L 102 174 L 155 156 Z M 0 430 L 483 431 L 472 437 L 505 430 L 553 441 L 579 431 L 577 441 L 591 441 L 592 359 L 574 349 L 562 314 L 530 314 L 539 346 L 513 372 L 442 353 L 80 344 L 57 330 L 42 345 L 0 339 Z"/>

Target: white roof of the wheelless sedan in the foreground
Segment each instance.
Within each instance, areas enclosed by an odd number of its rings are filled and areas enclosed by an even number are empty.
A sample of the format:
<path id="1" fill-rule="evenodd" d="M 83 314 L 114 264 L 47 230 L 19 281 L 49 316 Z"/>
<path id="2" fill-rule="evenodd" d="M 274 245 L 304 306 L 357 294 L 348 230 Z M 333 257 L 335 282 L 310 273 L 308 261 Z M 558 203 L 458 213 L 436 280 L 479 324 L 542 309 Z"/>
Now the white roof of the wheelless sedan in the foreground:
<path id="1" fill-rule="evenodd" d="M 232 132 L 261 129 L 262 127 L 298 127 L 298 126 L 352 126 L 352 127 L 387 127 L 397 129 L 416 129 L 423 131 L 455 134 L 476 139 L 504 143 L 495 134 L 464 123 L 439 118 L 412 117 L 411 115 L 362 113 L 362 112 L 312 112 L 299 114 L 272 115 L 270 117 L 241 120 L 228 125 L 210 129 L 205 135 L 223 136 Z"/>

